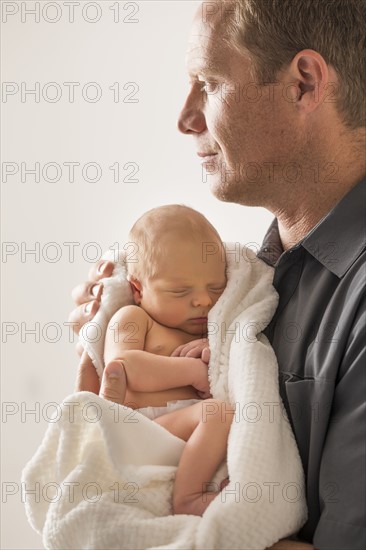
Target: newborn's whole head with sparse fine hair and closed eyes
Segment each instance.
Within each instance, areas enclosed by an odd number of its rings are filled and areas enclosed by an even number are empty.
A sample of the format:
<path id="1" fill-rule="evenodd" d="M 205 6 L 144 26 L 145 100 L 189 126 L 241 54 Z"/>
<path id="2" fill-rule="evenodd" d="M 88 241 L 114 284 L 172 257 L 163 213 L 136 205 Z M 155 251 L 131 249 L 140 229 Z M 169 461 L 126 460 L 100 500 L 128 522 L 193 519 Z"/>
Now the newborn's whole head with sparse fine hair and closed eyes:
<path id="1" fill-rule="evenodd" d="M 155 321 L 197 337 L 226 286 L 226 261 L 216 229 L 181 205 L 149 210 L 132 227 L 128 261 L 135 303 Z"/>

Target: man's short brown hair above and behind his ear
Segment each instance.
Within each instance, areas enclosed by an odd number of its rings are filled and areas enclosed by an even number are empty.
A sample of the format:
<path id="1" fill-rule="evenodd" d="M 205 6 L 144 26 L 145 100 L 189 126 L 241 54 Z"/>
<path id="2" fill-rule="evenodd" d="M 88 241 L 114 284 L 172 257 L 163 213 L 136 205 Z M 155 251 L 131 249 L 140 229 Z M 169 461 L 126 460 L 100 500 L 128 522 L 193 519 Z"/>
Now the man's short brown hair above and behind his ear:
<path id="1" fill-rule="evenodd" d="M 346 126 L 365 126 L 366 0 L 223 0 L 230 7 L 229 33 L 244 47 L 260 84 L 276 81 L 279 70 L 301 50 L 317 51 L 337 72 L 329 89 Z M 232 9 L 236 4 L 238 9 Z"/>

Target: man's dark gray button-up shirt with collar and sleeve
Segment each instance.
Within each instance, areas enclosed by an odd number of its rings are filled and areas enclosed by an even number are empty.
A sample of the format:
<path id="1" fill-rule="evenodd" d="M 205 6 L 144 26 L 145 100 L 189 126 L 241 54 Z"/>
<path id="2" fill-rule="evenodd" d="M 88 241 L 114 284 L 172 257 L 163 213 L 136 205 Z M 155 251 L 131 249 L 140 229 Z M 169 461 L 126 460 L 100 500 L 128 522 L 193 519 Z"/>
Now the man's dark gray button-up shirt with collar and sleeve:
<path id="1" fill-rule="evenodd" d="M 258 254 L 275 267 L 266 335 L 306 476 L 299 538 L 320 550 L 366 548 L 365 234 L 366 180 L 286 252 L 274 220 Z"/>

